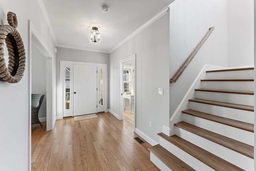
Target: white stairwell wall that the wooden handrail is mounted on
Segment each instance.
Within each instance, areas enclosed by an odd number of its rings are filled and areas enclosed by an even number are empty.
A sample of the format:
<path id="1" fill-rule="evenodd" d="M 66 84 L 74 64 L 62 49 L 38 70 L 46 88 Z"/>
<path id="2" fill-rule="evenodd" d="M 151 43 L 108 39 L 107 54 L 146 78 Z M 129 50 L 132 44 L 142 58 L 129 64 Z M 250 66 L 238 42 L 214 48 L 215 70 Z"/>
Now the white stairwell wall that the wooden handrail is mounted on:
<path id="1" fill-rule="evenodd" d="M 226 0 L 176 0 L 170 5 L 170 78 L 215 26 L 208 40 L 176 83 L 170 83 L 170 117 L 204 64 L 228 66 Z"/>

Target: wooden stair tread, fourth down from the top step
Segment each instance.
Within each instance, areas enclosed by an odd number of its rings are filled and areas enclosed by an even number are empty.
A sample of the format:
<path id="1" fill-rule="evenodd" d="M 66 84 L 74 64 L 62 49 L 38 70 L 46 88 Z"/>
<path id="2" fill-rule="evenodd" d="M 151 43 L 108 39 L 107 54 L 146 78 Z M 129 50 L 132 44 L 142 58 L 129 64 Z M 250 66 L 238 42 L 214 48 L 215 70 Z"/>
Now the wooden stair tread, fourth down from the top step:
<path id="1" fill-rule="evenodd" d="M 240 105 L 235 103 L 226 103 L 221 101 L 212 101 L 212 100 L 205 100 L 205 99 L 189 99 L 189 101 L 197 102 L 197 103 L 204 103 L 209 105 L 216 105 L 216 106 L 222 106 L 222 107 L 229 107 L 233 109 L 240 109 L 240 110 L 246 110 L 246 111 L 254 111 L 254 106 L 249 105 Z"/>

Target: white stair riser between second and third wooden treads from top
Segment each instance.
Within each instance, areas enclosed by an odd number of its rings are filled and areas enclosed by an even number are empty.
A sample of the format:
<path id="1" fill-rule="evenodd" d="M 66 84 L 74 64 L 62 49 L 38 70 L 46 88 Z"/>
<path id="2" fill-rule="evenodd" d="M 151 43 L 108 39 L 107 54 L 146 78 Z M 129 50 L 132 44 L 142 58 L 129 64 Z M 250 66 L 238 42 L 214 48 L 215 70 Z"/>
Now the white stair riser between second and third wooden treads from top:
<path id="1" fill-rule="evenodd" d="M 254 82 L 201 82 L 201 88 L 254 91 Z"/>

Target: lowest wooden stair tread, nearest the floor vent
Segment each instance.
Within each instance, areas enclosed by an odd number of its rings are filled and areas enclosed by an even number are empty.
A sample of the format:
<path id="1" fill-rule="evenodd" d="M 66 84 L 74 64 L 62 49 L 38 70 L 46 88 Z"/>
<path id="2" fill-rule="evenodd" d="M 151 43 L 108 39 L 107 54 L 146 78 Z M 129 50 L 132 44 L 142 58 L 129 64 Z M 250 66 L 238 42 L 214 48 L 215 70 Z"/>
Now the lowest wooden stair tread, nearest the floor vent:
<path id="1" fill-rule="evenodd" d="M 184 163 L 184 161 L 176 157 L 174 154 L 170 153 L 159 144 L 149 148 L 149 151 L 173 171 L 195 171 L 192 167 Z"/>

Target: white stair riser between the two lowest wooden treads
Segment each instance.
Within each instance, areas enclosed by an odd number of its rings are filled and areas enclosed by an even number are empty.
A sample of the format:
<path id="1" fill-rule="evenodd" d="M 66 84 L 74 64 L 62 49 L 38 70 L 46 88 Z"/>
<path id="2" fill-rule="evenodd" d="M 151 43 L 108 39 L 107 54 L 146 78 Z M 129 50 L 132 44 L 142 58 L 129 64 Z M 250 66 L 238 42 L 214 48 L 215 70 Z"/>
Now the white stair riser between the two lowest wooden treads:
<path id="1" fill-rule="evenodd" d="M 208 165 L 202 163 L 198 159 L 189 155 L 188 153 L 186 153 L 182 149 L 176 147 L 175 145 L 173 145 L 169 141 L 166 141 L 162 137 L 160 137 L 160 145 L 162 147 L 164 147 L 165 149 L 167 149 L 168 151 L 170 151 L 170 153 L 176 155 L 176 157 L 178 157 L 179 159 L 184 161 L 187 165 L 189 165 L 190 167 L 192 167 L 195 170 L 198 170 L 198 171 L 203 171 L 203 170 L 213 171 L 214 170 L 211 167 L 209 167 Z"/>

